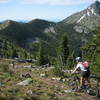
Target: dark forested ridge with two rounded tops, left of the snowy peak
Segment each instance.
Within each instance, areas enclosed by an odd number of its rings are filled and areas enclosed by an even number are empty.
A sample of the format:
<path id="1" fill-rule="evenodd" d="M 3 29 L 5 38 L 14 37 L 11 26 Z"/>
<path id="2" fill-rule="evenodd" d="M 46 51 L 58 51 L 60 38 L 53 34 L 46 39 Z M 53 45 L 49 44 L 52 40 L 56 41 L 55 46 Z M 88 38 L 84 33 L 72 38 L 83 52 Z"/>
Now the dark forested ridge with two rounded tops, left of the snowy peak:
<path id="1" fill-rule="evenodd" d="M 5 35 L 8 38 L 16 40 L 18 43 L 27 41 L 30 38 L 33 40 L 36 37 L 45 38 L 46 29 L 52 28 L 53 22 L 35 19 L 28 23 L 18 23 L 15 21 L 7 20 L 0 25 L 0 35 Z"/>

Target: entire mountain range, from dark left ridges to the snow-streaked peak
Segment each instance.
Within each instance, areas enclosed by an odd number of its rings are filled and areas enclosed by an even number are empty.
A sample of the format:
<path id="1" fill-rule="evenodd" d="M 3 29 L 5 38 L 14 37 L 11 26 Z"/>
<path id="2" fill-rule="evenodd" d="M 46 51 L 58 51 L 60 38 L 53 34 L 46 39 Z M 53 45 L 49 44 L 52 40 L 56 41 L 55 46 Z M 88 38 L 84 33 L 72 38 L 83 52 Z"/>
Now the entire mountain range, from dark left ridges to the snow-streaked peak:
<path id="1" fill-rule="evenodd" d="M 56 55 L 56 49 L 62 35 L 68 36 L 70 52 L 80 53 L 83 45 L 91 41 L 100 27 L 100 2 L 96 1 L 85 10 L 75 13 L 55 23 L 35 19 L 27 23 L 6 20 L 0 23 L 0 37 L 36 54 L 39 43 L 44 42 L 47 52 Z"/>

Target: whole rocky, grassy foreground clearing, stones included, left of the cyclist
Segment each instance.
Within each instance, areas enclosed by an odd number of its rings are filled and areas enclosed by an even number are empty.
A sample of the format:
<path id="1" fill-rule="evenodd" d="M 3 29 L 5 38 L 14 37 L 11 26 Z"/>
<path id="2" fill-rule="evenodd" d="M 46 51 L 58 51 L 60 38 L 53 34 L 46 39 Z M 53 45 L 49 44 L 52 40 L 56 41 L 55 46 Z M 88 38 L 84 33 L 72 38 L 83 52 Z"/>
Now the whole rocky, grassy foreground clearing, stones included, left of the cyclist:
<path id="1" fill-rule="evenodd" d="M 68 78 L 56 76 L 53 67 L 42 68 L 30 63 L 12 62 L 0 60 L 0 100 L 100 99 L 84 92 L 71 91 L 67 85 Z"/>

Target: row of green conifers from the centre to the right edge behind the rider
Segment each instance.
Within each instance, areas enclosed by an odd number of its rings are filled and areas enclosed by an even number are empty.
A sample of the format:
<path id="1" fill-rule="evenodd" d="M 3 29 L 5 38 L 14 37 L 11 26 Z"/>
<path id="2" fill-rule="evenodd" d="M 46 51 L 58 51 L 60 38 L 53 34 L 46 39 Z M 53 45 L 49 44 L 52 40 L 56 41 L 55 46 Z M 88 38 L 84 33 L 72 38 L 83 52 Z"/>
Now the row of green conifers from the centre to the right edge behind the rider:
<path id="1" fill-rule="evenodd" d="M 48 52 L 45 51 L 45 47 L 40 45 L 38 53 L 38 62 L 40 65 L 51 62 L 56 66 L 56 70 L 70 69 L 75 65 L 75 57 L 81 56 L 83 60 L 87 60 L 90 63 L 91 70 L 94 73 L 100 73 L 100 28 L 93 31 L 94 33 L 91 42 L 81 47 L 81 51 L 77 54 L 74 50 L 69 49 L 69 43 L 67 35 L 63 35 L 59 41 L 58 47 L 56 47 L 56 57 L 52 59 L 47 56 Z M 58 71 L 59 72 L 59 71 Z"/>

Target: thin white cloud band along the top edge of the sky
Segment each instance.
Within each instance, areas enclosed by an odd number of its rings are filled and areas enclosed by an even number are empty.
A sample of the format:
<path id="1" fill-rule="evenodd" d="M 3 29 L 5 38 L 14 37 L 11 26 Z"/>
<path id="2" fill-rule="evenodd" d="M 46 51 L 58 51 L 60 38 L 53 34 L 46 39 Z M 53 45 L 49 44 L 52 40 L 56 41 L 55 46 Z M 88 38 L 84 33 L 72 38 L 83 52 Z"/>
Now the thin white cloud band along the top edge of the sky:
<path id="1" fill-rule="evenodd" d="M 22 4 L 48 4 L 48 5 L 78 5 L 91 3 L 96 0 L 21 0 Z"/>

